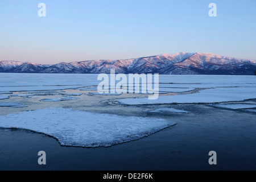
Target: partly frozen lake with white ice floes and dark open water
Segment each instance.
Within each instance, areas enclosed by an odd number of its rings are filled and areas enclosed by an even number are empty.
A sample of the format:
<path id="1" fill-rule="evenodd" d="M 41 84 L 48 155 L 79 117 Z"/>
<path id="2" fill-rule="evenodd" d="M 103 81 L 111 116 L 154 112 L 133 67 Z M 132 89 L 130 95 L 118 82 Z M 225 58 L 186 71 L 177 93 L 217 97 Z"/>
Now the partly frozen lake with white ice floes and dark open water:
<path id="1" fill-rule="evenodd" d="M 0 169 L 30 169 L 27 147 L 74 155 L 49 169 L 211 169 L 212 150 L 212 169 L 256 169 L 255 76 L 160 75 L 158 100 L 98 94 L 97 76 L 0 73 Z"/>

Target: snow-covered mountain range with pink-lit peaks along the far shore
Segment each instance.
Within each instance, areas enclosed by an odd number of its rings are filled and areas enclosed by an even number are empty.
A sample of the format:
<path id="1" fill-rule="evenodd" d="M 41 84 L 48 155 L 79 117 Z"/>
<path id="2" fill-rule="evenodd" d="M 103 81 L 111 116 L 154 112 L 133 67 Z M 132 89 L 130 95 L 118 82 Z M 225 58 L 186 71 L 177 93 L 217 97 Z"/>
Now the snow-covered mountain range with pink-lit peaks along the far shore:
<path id="1" fill-rule="evenodd" d="M 42 65 L 1 61 L 5 73 L 159 73 L 166 75 L 254 75 L 256 61 L 214 55 L 185 53 L 140 57 L 127 60 L 90 60 Z"/>

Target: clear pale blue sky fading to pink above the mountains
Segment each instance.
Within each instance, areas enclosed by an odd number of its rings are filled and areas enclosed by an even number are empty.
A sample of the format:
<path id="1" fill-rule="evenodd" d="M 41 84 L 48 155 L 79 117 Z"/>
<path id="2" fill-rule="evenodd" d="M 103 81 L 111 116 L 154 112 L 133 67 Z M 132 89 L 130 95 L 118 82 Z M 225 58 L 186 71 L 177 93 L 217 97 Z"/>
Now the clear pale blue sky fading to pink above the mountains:
<path id="1" fill-rule="evenodd" d="M 46 17 L 38 4 L 46 4 Z M 217 17 L 210 17 L 216 3 Z M 38 64 L 205 52 L 256 60 L 256 1 L 0 0 L 0 61 Z"/>

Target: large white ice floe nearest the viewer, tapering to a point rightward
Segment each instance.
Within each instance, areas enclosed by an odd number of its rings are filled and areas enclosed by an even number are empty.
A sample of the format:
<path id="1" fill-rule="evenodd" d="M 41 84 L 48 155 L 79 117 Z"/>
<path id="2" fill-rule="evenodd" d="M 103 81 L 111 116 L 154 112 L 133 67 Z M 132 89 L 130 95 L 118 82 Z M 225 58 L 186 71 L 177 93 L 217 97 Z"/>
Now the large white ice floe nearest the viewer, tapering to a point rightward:
<path id="1" fill-rule="evenodd" d="M 63 146 L 108 147 L 156 133 L 175 122 L 49 108 L 0 116 L 0 127 L 44 133 Z"/>

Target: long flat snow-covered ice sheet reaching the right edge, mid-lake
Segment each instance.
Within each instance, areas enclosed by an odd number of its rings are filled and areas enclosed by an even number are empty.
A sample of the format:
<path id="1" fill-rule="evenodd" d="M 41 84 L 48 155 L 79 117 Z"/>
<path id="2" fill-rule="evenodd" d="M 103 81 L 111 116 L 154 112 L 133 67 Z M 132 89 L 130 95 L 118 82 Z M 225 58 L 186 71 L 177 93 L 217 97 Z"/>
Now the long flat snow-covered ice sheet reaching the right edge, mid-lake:
<path id="1" fill-rule="evenodd" d="M 189 103 L 218 103 L 230 101 L 243 101 L 256 98 L 256 87 L 226 87 L 200 90 L 198 93 L 175 96 L 159 96 L 157 100 L 148 98 L 134 98 L 119 100 L 120 104 L 189 104 Z"/>

